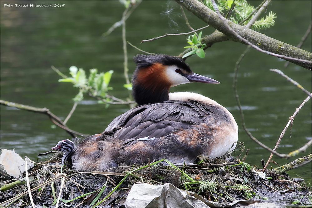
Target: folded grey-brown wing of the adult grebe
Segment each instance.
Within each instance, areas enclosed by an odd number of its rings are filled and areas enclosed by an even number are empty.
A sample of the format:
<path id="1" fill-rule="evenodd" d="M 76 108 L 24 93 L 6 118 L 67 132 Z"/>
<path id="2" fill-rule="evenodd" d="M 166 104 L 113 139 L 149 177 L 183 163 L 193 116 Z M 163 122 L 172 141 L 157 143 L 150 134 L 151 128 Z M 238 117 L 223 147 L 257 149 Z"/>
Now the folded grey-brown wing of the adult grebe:
<path id="1" fill-rule="evenodd" d="M 202 124 L 211 111 L 200 103 L 166 101 L 137 106 L 116 117 L 106 128 L 114 137 L 128 143 L 167 136 L 176 129 Z"/>

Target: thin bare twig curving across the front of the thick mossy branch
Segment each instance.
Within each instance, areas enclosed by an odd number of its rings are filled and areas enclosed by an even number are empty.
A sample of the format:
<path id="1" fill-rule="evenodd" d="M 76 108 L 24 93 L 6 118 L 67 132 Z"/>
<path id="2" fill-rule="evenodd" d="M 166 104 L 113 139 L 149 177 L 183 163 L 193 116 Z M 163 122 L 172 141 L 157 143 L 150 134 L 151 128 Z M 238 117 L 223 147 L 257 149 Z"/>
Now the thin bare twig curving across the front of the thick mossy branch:
<path id="1" fill-rule="evenodd" d="M 295 61 L 295 62 L 302 62 L 302 63 L 307 63 L 307 64 L 312 64 L 311 61 L 309 60 L 305 60 L 305 59 L 300 59 L 300 58 L 293 58 L 293 57 L 288 57 L 288 56 L 285 56 L 285 55 L 280 55 L 280 54 L 276 54 L 276 53 L 272 53 L 272 52 L 269 52 L 269 51 L 266 51 L 266 50 L 263 50 L 262 48 L 252 44 L 249 40 L 243 38 L 240 36 L 240 34 L 238 34 L 235 30 L 233 30 L 229 24 L 226 22 L 227 20 L 221 15 L 219 9 L 218 9 L 218 6 L 217 4 L 215 3 L 215 0 L 211 0 L 212 1 L 212 4 L 213 4 L 213 7 L 216 11 L 216 13 L 218 14 L 218 16 L 220 17 L 220 19 L 222 20 L 222 22 L 224 23 L 224 26 L 227 28 L 228 31 L 230 31 L 230 33 L 232 33 L 237 39 L 240 40 L 240 42 L 243 42 L 245 43 L 246 45 L 250 45 L 251 47 L 253 47 L 254 49 L 256 49 L 257 51 L 260 51 L 262 53 L 265 53 L 265 54 L 268 54 L 268 55 L 271 55 L 271 56 L 274 56 L 274 57 L 277 57 L 277 58 L 282 58 L 284 60 L 287 60 L 287 61 Z"/>

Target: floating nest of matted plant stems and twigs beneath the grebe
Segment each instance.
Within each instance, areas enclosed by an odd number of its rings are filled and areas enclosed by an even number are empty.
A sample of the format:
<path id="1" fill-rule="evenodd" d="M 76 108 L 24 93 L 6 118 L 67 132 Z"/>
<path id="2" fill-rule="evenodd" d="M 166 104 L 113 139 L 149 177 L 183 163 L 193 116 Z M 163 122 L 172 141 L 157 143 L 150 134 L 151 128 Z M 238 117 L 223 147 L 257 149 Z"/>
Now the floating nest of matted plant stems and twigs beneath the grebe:
<path id="1" fill-rule="evenodd" d="M 277 202 L 311 206 L 311 194 L 302 179 L 291 179 L 273 171 L 245 163 L 240 157 L 210 160 L 199 156 L 196 167 L 174 166 L 166 159 L 146 166 L 119 166 L 104 172 L 74 172 L 62 166 L 62 153 L 28 170 L 17 186 L 17 180 L 1 181 L 1 207 L 124 207 L 133 184 L 171 183 L 193 191 L 209 201 L 230 203 L 235 200 Z M 27 181 L 29 188 L 27 188 Z M 9 186 L 9 188 L 8 188 Z"/>

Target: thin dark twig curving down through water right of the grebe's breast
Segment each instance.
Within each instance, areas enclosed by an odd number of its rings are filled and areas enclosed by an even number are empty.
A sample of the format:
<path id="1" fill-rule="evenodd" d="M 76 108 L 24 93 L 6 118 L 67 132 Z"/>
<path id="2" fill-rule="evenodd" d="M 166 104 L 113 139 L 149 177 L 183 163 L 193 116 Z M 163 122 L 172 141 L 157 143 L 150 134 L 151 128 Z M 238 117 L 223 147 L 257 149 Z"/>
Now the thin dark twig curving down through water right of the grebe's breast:
<path id="1" fill-rule="evenodd" d="M 272 150 L 270 147 L 266 146 L 265 144 L 263 144 L 262 142 L 260 142 L 259 140 L 257 140 L 251 133 L 250 131 L 248 131 L 247 127 L 246 127 L 246 124 L 245 124 L 245 118 L 244 118 L 244 112 L 243 112 L 243 109 L 241 107 L 241 104 L 240 104 L 240 98 L 238 96 L 238 92 L 237 92 L 237 72 L 238 72 L 238 69 L 240 67 L 240 62 L 243 60 L 243 58 L 245 57 L 245 54 L 249 51 L 250 49 L 250 46 L 247 46 L 246 50 L 240 55 L 240 58 L 237 60 L 236 64 L 235 64 L 235 68 L 234 68 L 234 73 L 235 73 L 235 76 L 233 78 L 233 88 L 234 88 L 234 93 L 235 93 L 235 99 L 236 99 L 236 102 L 237 102 L 237 106 L 240 110 L 240 118 L 241 118 L 241 121 L 242 121 L 242 126 L 245 130 L 245 132 L 247 133 L 247 135 L 250 137 L 250 139 L 252 139 L 253 141 L 255 141 L 257 144 L 259 144 L 261 147 L 265 148 L 266 150 L 276 154 L 277 156 L 279 157 L 289 157 L 288 155 L 286 154 L 280 154 L 274 150 Z"/>

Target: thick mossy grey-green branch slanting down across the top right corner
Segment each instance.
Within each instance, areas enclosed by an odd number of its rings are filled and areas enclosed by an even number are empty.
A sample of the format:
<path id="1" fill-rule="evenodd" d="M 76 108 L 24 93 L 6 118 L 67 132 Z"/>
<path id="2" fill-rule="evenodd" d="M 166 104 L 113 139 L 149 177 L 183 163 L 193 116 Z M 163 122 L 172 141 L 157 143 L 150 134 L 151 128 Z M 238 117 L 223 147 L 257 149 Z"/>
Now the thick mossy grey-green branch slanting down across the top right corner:
<path id="1" fill-rule="evenodd" d="M 177 1 L 180 5 L 184 6 L 198 18 L 209 24 L 210 26 L 214 27 L 218 31 L 222 32 L 227 38 L 232 41 L 241 42 L 246 44 L 246 42 L 241 41 L 232 31 L 230 31 L 224 24 L 223 20 L 221 20 L 218 14 L 204 4 L 198 1 L 187 1 L 187 0 L 178 0 Z M 292 62 L 296 65 L 301 67 L 307 68 L 311 70 L 311 53 L 305 50 L 302 50 L 298 47 L 289 45 L 287 43 L 281 42 L 274 38 L 268 37 L 260 32 L 256 32 L 239 24 L 235 24 L 230 20 L 225 20 L 226 23 L 230 26 L 230 28 L 238 33 L 241 37 L 244 37 L 245 40 L 251 42 L 255 46 L 259 47 L 262 50 L 275 53 L 279 56 L 283 57 L 284 60 Z M 220 40 L 221 37 L 218 38 Z M 220 41 L 219 41 L 220 42 Z M 207 42 L 206 44 L 209 44 Z M 287 57 L 290 57 L 287 58 Z M 295 60 L 300 59 L 300 60 Z M 307 61 L 302 61 L 302 60 Z"/>

